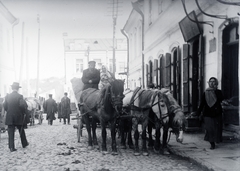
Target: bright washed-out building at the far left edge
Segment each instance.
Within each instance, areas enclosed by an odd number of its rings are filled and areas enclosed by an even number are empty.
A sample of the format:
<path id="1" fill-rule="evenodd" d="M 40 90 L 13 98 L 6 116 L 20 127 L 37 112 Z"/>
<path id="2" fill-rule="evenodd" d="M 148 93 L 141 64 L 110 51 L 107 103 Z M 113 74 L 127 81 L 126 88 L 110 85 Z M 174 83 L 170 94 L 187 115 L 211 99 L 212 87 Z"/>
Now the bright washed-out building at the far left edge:
<path id="1" fill-rule="evenodd" d="M 16 80 L 14 67 L 13 31 L 18 19 L 0 2 L 0 94 L 11 91 Z"/>

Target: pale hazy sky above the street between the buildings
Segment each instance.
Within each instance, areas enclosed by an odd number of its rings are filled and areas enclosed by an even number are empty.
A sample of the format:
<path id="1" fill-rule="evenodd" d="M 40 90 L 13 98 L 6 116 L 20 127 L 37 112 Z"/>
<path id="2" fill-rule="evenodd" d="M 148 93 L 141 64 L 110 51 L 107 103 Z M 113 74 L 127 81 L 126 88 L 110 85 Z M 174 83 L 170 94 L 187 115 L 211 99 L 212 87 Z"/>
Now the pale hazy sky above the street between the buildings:
<path id="1" fill-rule="evenodd" d="M 23 79 L 37 78 L 38 55 L 40 79 L 64 76 L 63 33 L 67 33 L 67 38 L 113 37 L 113 0 L 0 1 L 19 19 L 19 23 L 14 26 L 14 54 L 17 72 L 20 73 L 20 64 L 23 64 Z M 124 38 L 120 30 L 126 24 L 134 0 L 118 2 L 116 38 Z"/>

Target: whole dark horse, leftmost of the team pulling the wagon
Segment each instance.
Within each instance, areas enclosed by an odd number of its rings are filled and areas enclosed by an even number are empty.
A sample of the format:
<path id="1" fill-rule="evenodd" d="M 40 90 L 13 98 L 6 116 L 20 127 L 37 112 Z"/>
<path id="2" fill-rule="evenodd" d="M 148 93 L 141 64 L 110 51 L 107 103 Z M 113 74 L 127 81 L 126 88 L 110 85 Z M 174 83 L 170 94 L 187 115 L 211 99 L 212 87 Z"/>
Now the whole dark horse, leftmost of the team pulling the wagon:
<path id="1" fill-rule="evenodd" d="M 124 89 L 123 80 L 114 80 L 103 89 L 86 89 L 80 96 L 80 112 L 88 132 L 88 146 L 97 145 L 96 122 L 100 121 L 102 131 L 102 151 L 107 152 L 106 126 L 110 124 L 112 138 L 112 154 L 117 154 L 116 147 L 116 120 L 122 110 Z M 91 124 L 90 124 L 90 118 Z M 92 134 L 91 134 L 92 127 Z"/>

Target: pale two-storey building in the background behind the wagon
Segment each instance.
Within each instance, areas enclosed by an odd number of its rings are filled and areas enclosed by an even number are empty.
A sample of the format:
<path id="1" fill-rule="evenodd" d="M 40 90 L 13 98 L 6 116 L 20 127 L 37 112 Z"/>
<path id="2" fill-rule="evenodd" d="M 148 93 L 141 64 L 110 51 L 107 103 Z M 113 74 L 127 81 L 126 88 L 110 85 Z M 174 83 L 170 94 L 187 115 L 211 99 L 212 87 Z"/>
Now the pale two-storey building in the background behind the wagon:
<path id="1" fill-rule="evenodd" d="M 88 61 L 96 61 L 96 68 L 107 66 L 113 72 L 113 39 L 67 39 L 64 38 L 65 57 L 65 90 L 71 101 L 75 100 L 72 92 L 71 79 L 81 78 L 84 69 L 88 68 Z M 122 75 L 127 68 L 127 41 L 116 39 L 115 43 L 116 72 L 115 77 L 125 79 Z M 120 73 L 120 75 L 119 75 Z"/>

